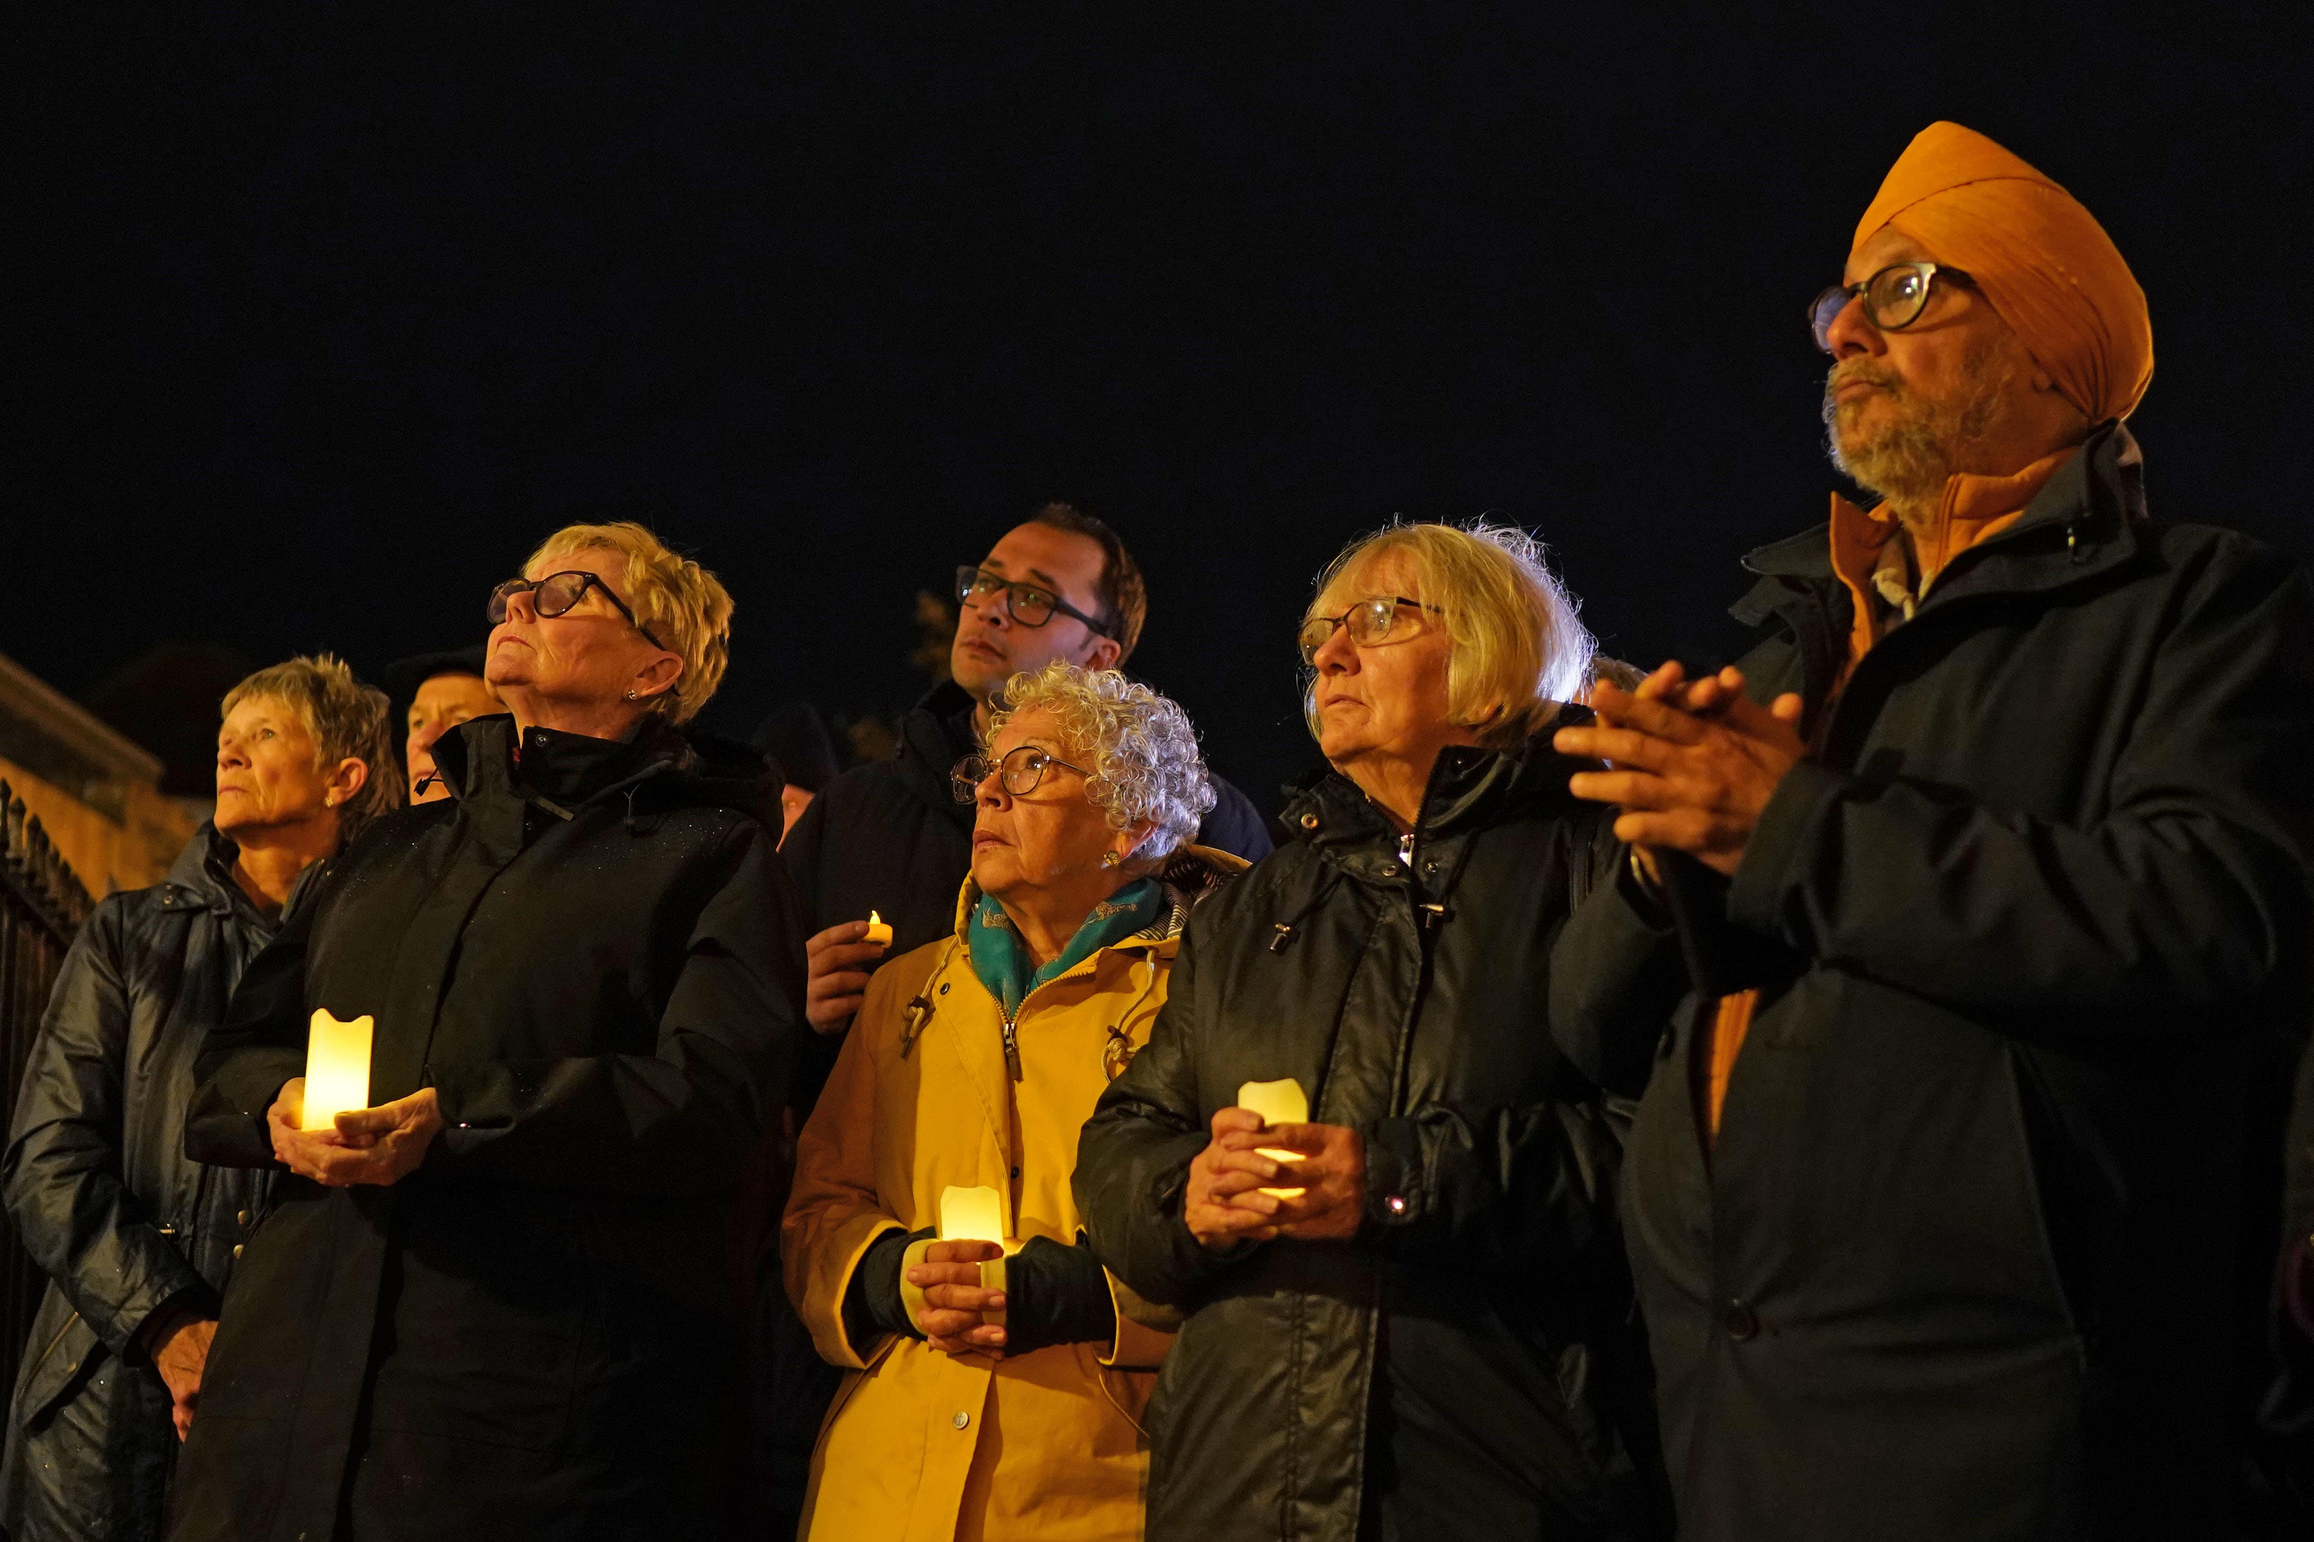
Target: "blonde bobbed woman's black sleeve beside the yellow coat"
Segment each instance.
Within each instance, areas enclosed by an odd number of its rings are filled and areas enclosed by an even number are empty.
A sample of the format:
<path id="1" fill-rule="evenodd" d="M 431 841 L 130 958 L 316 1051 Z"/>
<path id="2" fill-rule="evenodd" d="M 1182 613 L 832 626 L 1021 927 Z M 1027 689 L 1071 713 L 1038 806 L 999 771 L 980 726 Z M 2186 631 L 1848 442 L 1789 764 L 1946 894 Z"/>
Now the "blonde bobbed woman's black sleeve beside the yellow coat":
<path id="1" fill-rule="evenodd" d="M 1247 1251 L 1210 1251 L 1182 1218 L 1189 1163 L 1210 1140 L 1196 1096 L 1196 941 L 1217 911 L 1192 913 L 1150 1040 L 1101 1094 L 1076 1144 L 1071 1186 L 1095 1255 L 1159 1306 L 1185 1306 Z"/>

